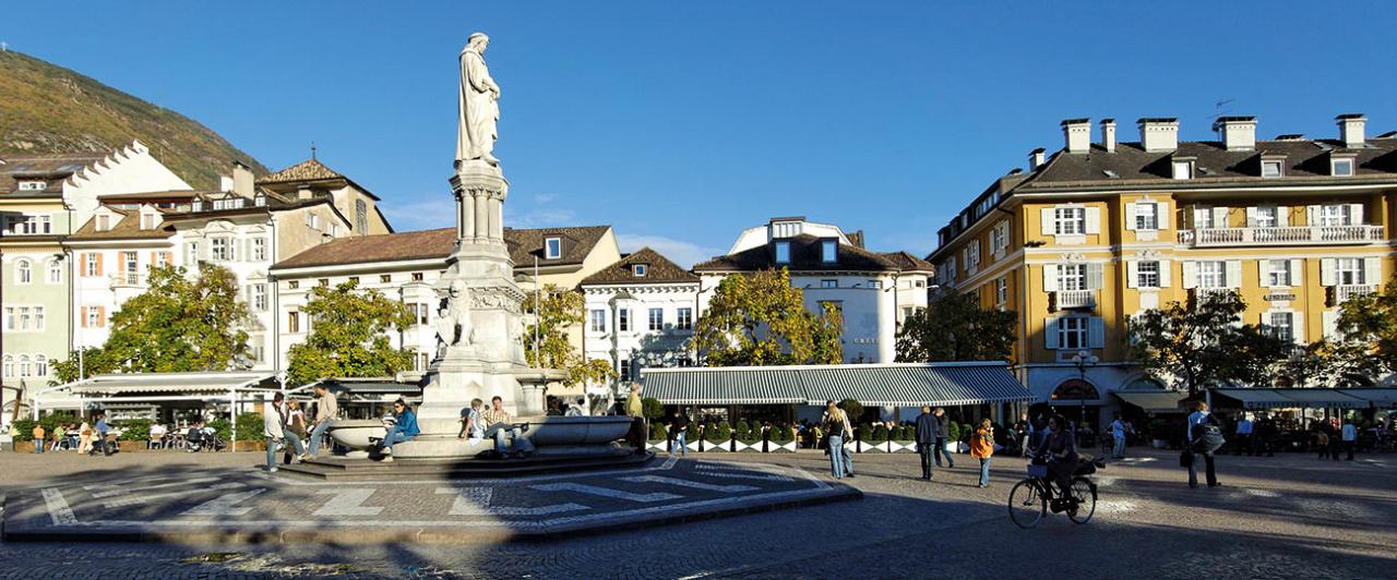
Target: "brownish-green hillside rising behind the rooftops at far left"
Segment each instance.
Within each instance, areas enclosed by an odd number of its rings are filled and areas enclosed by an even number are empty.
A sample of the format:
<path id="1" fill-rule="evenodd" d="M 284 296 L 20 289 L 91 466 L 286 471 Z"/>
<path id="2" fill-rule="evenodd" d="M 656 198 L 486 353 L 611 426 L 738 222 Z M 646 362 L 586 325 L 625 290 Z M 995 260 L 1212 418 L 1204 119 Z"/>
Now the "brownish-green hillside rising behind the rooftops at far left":
<path id="1" fill-rule="evenodd" d="M 140 139 L 196 188 L 217 188 L 250 155 L 183 114 L 17 52 L 0 52 L 0 153 L 108 151 Z"/>

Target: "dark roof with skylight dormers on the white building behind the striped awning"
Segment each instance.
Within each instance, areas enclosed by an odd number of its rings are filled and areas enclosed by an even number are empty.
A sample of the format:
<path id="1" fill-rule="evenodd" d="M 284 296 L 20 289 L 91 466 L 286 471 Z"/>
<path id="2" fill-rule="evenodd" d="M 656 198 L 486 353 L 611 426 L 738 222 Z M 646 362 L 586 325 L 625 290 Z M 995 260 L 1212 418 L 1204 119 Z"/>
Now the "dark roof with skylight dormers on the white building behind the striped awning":
<path id="1" fill-rule="evenodd" d="M 756 272 L 768 268 L 787 268 L 791 272 L 897 272 L 902 269 L 902 262 L 898 258 L 848 244 L 840 244 L 835 264 L 826 264 L 820 259 L 820 241 L 823 240 L 810 234 L 775 241 L 791 243 L 791 264 L 777 264 L 771 244 L 767 244 L 700 262 L 694 266 L 694 272 Z"/>

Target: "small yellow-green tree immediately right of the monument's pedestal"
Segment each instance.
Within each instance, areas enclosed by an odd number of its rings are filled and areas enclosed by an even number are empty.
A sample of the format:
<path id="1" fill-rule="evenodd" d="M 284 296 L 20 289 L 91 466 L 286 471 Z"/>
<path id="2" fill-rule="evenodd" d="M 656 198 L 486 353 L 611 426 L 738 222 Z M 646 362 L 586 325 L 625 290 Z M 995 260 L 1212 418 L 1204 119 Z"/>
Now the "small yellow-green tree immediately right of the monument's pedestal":
<path id="1" fill-rule="evenodd" d="M 594 358 L 584 360 L 567 337 L 567 329 L 583 323 L 583 294 L 543 286 L 524 300 L 524 312 L 534 315 L 524 332 L 524 357 L 534 368 L 557 368 L 567 374 L 564 385 L 602 383 L 616 378 L 610 362 Z M 535 346 L 535 333 L 538 344 Z"/>

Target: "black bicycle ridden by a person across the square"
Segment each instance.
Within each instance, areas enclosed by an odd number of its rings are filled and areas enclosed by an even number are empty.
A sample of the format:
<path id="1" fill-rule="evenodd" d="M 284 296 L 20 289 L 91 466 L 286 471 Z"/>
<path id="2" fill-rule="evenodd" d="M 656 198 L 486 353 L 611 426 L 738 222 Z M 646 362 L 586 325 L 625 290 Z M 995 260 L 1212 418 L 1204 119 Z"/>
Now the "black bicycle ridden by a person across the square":
<path id="1" fill-rule="evenodd" d="M 1091 521 L 1091 516 L 1097 513 L 1097 484 L 1085 475 L 1097 473 L 1097 468 L 1105 468 L 1105 463 L 1099 459 L 1078 459 L 1067 487 L 1070 496 L 1060 498 L 1060 494 L 1053 492 L 1056 485 L 1048 480 L 1048 464 L 1030 456 L 1028 477 L 1009 491 L 1009 519 L 1014 526 L 1028 530 L 1038 526 L 1052 509 L 1053 513 L 1066 512 L 1067 519 L 1078 524 Z"/>

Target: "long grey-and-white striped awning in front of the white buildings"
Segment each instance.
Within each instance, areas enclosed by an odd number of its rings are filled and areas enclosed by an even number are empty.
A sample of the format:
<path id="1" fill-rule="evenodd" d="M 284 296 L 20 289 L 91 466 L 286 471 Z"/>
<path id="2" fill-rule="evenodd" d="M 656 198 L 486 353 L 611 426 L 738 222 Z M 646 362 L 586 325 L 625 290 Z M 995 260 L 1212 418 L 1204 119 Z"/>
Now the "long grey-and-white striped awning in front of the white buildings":
<path id="1" fill-rule="evenodd" d="M 1003 362 L 647 368 L 645 396 L 668 404 L 960 406 L 1034 400 Z"/>

